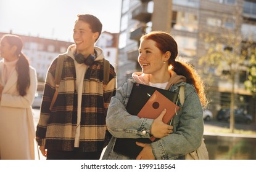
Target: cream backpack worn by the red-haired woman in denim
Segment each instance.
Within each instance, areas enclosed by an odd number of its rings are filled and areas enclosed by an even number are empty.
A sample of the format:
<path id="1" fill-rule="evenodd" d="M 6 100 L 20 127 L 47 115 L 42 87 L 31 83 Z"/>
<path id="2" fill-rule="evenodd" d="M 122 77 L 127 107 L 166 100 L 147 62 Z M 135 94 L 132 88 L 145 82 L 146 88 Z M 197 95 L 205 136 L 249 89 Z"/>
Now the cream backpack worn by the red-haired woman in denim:
<path id="1" fill-rule="evenodd" d="M 184 85 L 180 87 L 180 103 L 183 105 L 185 99 L 185 93 L 184 93 Z M 209 160 L 209 154 L 207 151 L 207 148 L 204 143 L 204 138 L 202 138 L 202 143 L 200 146 L 192 152 L 189 152 L 185 155 L 186 160 Z"/>

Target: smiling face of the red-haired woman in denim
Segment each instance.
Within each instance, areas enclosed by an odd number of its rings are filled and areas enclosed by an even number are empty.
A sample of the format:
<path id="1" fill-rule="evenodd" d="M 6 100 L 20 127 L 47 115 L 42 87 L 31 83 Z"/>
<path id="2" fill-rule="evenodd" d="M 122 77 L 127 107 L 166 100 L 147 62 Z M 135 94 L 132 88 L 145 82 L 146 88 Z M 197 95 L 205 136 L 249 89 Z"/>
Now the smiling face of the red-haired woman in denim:
<path id="1" fill-rule="evenodd" d="M 168 52 L 167 52 L 168 53 Z M 162 76 L 168 72 L 167 53 L 162 53 L 156 46 L 156 42 L 151 39 L 143 39 L 139 45 L 138 62 L 141 65 L 144 74 L 152 74 L 152 76 Z"/>

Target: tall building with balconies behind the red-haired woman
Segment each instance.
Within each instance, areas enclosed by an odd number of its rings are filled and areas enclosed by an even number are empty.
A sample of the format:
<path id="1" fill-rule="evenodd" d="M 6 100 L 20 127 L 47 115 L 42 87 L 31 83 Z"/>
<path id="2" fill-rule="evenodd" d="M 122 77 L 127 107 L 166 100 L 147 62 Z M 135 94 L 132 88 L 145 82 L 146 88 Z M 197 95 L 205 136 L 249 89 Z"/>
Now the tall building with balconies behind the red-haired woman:
<path id="1" fill-rule="evenodd" d="M 256 42 L 256 2 L 250 0 L 123 0 L 120 22 L 118 86 L 122 85 L 131 73 L 141 71 L 138 65 L 139 37 L 149 31 L 162 30 L 171 33 L 178 43 L 179 56 L 189 61 L 202 72 L 209 109 L 216 115 L 221 108 L 230 104 L 231 82 L 222 79 L 228 69 L 217 72 L 205 69 L 199 60 L 207 53 L 209 44 L 205 34 L 221 38 L 229 33 L 242 37 L 241 42 L 252 38 Z M 215 42 L 221 49 L 230 48 L 226 42 Z M 243 43 L 241 43 L 242 45 Z M 237 47 L 241 49 L 240 47 Z M 247 77 L 246 64 L 236 75 L 235 108 L 242 108 L 256 115 L 255 99 L 244 87 Z M 210 83 L 207 77 L 211 74 Z"/>

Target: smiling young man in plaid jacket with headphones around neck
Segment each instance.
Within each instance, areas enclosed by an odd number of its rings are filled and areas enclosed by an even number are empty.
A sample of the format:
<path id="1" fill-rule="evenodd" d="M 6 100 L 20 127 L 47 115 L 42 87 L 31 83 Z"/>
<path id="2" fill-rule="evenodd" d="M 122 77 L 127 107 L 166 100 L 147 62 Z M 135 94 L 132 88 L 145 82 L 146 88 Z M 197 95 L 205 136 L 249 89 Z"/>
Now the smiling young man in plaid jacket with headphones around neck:
<path id="1" fill-rule="evenodd" d="M 36 141 L 47 159 L 99 159 L 109 140 L 105 117 L 116 90 L 116 74 L 110 65 L 104 82 L 102 49 L 94 44 L 102 24 L 93 15 L 78 15 L 73 29 L 75 44 L 68 47 L 56 102 L 57 58 L 48 69 Z M 47 155 L 46 155 L 47 150 Z"/>

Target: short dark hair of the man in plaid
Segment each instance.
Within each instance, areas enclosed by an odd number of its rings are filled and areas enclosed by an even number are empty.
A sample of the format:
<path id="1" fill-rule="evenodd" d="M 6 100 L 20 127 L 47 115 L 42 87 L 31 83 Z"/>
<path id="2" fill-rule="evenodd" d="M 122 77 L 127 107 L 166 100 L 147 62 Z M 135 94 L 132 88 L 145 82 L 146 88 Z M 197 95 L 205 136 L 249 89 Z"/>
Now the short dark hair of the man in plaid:
<path id="1" fill-rule="evenodd" d="M 91 31 L 93 33 L 97 32 L 97 33 L 99 33 L 99 36 L 101 35 L 102 23 L 101 23 L 101 21 L 99 21 L 99 18 L 97 18 L 91 14 L 78 14 L 76 22 L 78 20 L 88 23 L 91 28 Z M 97 39 L 99 39 L 99 37 L 97 37 Z M 96 39 L 96 41 L 97 41 L 97 39 Z"/>

